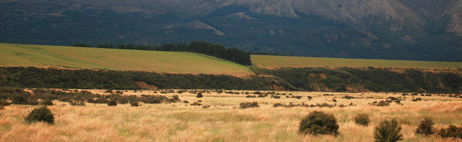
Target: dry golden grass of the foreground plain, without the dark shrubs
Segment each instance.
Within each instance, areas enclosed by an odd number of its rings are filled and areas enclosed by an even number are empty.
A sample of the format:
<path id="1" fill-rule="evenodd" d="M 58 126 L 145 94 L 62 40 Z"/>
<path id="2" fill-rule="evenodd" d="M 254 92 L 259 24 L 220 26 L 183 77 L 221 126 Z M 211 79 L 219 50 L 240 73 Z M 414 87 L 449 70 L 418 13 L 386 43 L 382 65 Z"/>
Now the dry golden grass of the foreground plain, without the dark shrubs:
<path id="1" fill-rule="evenodd" d="M 90 90 L 104 94 L 104 90 Z M 245 92 L 245 91 L 239 91 Z M 253 91 L 249 91 L 253 92 Z M 303 96 L 302 99 L 246 98 L 245 94 L 205 93 L 196 98 L 188 92 L 178 94 L 190 103 L 202 100 L 209 108 L 193 107 L 184 103 L 141 104 L 90 104 L 85 107 L 55 102 L 48 107 L 55 114 L 55 124 L 36 123 L 28 125 L 23 118 L 38 106 L 11 105 L 0 110 L 0 141 L 374 141 L 373 130 L 380 121 L 396 118 L 402 126 L 404 141 L 462 141 L 461 139 L 424 137 L 416 135 L 415 129 L 424 116 L 434 119 L 436 128 L 449 124 L 462 125 L 462 99 L 453 97 L 421 97 L 423 101 L 412 102 L 412 97 L 392 103 L 390 107 L 372 107 L 369 102 L 384 100 L 380 97 L 400 97 L 393 93 L 330 93 L 330 92 L 279 92 Z M 323 96 L 323 94 L 335 94 Z M 152 91 L 124 92 L 124 94 L 154 94 Z M 343 99 L 345 94 L 362 99 Z M 163 94 L 172 96 L 173 94 Z M 308 101 L 306 96 L 312 96 Z M 366 97 L 375 97 L 367 99 Z M 275 103 L 289 102 L 316 104 L 330 102 L 353 103 L 355 107 L 333 108 L 274 108 Z M 239 109 L 241 102 L 258 102 L 260 107 Z M 311 111 L 334 114 L 340 126 L 340 135 L 301 136 L 299 122 Z M 371 124 L 355 124 L 357 113 L 370 115 Z"/>

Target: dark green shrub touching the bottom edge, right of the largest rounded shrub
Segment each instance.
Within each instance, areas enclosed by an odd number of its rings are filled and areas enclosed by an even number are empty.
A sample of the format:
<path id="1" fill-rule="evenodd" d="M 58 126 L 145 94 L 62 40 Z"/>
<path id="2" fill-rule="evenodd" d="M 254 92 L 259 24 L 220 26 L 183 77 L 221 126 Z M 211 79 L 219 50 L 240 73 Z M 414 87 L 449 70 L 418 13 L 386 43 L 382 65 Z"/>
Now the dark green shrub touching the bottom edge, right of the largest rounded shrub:
<path id="1" fill-rule="evenodd" d="M 396 119 L 382 121 L 375 126 L 374 138 L 376 142 L 395 142 L 403 140 L 401 126 Z"/>

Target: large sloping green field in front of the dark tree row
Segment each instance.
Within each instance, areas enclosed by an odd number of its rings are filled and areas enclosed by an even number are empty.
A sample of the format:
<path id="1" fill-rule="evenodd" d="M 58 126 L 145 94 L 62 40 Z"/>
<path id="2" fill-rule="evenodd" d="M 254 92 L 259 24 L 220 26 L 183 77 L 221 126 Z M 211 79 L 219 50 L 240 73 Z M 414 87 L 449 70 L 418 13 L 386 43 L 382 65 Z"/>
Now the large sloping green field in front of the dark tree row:
<path id="1" fill-rule="evenodd" d="M 0 43 L 0 65 L 251 75 L 248 67 L 197 53 Z"/>

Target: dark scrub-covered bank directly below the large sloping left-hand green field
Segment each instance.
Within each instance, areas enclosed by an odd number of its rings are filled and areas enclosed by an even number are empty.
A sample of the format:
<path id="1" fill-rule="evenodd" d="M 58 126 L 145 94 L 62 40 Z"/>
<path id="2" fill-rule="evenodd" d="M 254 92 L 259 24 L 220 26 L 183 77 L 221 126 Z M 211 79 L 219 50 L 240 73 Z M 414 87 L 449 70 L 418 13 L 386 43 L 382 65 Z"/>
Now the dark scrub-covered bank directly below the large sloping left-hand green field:
<path id="1" fill-rule="evenodd" d="M 272 77 L 230 75 L 180 75 L 114 70 L 55 70 L 36 67 L 0 67 L 0 87 L 141 89 L 136 82 L 171 89 L 272 89 L 269 84 L 291 89 Z M 294 90 L 292 88 L 292 90 Z M 1 94 L 0 94 L 1 95 Z M 28 94 L 26 94 L 28 95 Z"/>

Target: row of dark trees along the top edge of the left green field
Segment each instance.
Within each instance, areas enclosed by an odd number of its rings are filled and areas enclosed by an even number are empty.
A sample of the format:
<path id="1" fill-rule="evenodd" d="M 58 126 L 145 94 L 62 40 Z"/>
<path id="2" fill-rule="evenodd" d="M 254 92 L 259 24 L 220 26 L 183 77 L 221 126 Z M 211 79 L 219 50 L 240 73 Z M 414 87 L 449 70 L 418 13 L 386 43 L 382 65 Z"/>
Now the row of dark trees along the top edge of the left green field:
<path id="1" fill-rule="evenodd" d="M 91 47 L 85 43 L 75 43 L 73 46 Z M 98 44 L 97 48 L 117 48 L 129 50 L 156 50 L 156 51 L 180 51 L 189 53 L 201 53 L 215 58 L 229 60 L 240 65 L 252 65 L 250 53 L 239 48 L 225 48 L 223 45 L 207 43 L 205 41 L 193 41 L 191 43 L 165 44 L 165 45 L 136 45 L 133 43 L 119 44 L 114 46 L 110 43 Z"/>

